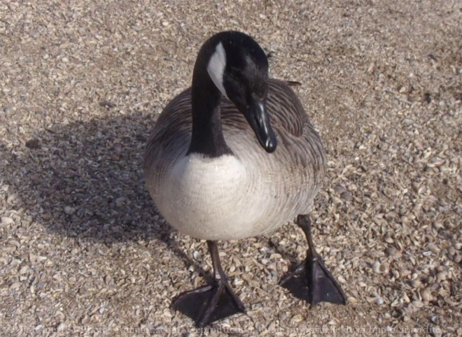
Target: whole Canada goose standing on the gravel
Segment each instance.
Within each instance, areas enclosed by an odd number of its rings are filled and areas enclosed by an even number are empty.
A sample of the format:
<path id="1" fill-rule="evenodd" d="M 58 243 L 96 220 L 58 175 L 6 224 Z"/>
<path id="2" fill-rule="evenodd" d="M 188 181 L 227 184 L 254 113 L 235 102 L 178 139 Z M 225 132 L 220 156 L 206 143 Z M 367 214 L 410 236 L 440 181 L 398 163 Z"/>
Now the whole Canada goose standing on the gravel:
<path id="1" fill-rule="evenodd" d="M 304 278 L 311 304 L 346 303 L 314 250 L 307 216 L 325 173 L 323 145 L 295 93 L 268 69 L 250 36 L 212 36 L 197 56 L 192 87 L 163 110 L 146 145 L 145 179 L 158 210 L 209 246 L 214 282 L 173 301 L 198 327 L 244 311 L 216 241 L 264 234 L 296 216 L 309 249 L 283 282 Z"/>

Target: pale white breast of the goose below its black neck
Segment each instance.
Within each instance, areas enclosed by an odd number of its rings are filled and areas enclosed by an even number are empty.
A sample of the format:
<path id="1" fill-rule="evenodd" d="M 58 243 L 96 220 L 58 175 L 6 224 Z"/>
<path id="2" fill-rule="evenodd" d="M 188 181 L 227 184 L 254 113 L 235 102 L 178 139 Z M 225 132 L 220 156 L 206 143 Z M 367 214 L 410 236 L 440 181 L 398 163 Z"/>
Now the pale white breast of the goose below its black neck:
<path id="1" fill-rule="evenodd" d="M 272 216 L 276 196 L 271 184 L 260 179 L 233 155 L 191 154 L 174 164 L 153 198 L 183 234 L 207 240 L 244 238 L 262 234 L 270 225 L 265 219 Z"/>

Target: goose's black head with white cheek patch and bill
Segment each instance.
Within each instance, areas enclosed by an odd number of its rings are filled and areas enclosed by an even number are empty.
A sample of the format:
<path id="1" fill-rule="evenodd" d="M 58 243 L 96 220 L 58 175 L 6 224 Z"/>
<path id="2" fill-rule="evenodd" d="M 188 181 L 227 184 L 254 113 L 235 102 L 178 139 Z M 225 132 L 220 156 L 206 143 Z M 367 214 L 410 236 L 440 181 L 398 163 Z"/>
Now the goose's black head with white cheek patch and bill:
<path id="1" fill-rule="evenodd" d="M 260 45 L 246 34 L 223 31 L 204 43 L 201 56 L 215 87 L 246 117 L 262 148 L 274 152 L 276 134 L 266 108 L 269 65 Z"/>

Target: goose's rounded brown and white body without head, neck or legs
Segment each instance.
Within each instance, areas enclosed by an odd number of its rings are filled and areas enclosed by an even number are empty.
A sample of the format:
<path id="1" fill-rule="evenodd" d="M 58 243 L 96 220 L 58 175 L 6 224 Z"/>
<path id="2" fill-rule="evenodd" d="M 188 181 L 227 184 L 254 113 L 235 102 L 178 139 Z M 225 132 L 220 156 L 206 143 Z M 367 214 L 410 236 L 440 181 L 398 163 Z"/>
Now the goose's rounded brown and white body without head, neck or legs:
<path id="1" fill-rule="evenodd" d="M 265 234 L 312 206 L 325 172 L 317 132 L 286 83 L 269 80 L 267 110 L 279 141 L 268 154 L 245 117 L 221 101 L 231 154 L 189 153 L 191 89 L 163 110 L 146 147 L 148 190 L 169 224 L 195 238 L 230 240 Z"/>

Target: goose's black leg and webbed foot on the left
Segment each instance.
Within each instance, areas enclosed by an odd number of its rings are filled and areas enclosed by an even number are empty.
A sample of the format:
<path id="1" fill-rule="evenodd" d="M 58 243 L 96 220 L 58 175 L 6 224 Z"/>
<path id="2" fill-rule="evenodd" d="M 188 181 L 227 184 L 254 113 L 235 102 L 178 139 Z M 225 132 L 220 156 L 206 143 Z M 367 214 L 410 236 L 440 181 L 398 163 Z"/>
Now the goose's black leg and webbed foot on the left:
<path id="1" fill-rule="evenodd" d="M 207 241 L 207 245 L 214 266 L 212 284 L 183 292 L 172 302 L 172 307 L 193 318 L 197 327 L 205 327 L 235 313 L 244 313 L 245 310 L 239 297 L 232 292 L 228 278 L 221 268 L 216 241 Z"/>

